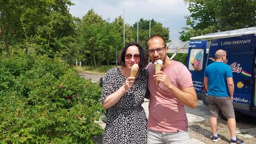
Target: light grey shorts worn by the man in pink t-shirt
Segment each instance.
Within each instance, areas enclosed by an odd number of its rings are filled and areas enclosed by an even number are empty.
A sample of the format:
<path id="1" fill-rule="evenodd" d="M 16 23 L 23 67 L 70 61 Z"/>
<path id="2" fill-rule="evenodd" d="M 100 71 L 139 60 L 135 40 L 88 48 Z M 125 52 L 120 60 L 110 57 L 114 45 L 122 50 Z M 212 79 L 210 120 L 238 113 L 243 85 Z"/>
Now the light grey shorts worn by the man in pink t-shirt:
<path id="1" fill-rule="evenodd" d="M 174 144 L 189 144 L 190 139 L 188 131 L 181 132 L 157 132 L 147 130 L 147 141 L 151 143 L 174 143 Z"/>

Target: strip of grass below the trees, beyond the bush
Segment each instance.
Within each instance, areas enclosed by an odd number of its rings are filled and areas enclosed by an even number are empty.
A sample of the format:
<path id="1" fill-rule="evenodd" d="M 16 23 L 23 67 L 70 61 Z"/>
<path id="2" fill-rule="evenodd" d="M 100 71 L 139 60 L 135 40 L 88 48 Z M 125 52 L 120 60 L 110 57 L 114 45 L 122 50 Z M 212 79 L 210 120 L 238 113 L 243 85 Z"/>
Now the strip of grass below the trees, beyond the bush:
<path id="1" fill-rule="evenodd" d="M 74 69 L 81 72 L 81 73 L 88 73 L 88 74 L 98 74 L 98 75 L 106 75 L 107 71 L 110 68 L 114 68 L 116 66 L 101 66 L 99 68 L 94 68 L 93 66 L 74 66 Z"/>

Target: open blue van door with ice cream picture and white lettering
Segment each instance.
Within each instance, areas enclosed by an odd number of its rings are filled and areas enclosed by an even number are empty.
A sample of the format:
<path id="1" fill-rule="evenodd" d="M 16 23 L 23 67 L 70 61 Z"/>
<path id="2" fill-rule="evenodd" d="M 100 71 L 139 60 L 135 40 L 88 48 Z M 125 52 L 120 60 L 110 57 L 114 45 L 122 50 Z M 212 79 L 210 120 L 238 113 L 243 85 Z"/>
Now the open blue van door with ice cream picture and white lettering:
<path id="1" fill-rule="evenodd" d="M 188 49 L 187 68 L 192 74 L 192 81 L 198 99 L 202 99 L 204 70 L 206 64 L 207 41 L 190 41 Z"/>

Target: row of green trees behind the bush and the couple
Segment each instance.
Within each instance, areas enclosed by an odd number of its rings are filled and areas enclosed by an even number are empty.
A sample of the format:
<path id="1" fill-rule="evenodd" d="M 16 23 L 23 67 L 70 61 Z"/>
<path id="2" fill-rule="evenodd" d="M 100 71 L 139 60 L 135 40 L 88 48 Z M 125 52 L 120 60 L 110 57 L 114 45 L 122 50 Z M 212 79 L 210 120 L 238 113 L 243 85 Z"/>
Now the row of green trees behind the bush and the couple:
<path id="1" fill-rule="evenodd" d="M 103 20 L 93 9 L 82 19 L 72 17 L 70 0 L 19 0 L 0 1 L 0 53 L 9 46 L 16 49 L 59 57 L 69 65 L 82 62 L 94 68 L 114 65 L 124 43 L 137 39 L 137 23 L 125 23 L 123 42 L 123 18 L 113 22 Z M 145 47 L 149 36 L 149 20 L 139 22 L 139 43 Z M 161 34 L 167 41 L 169 29 L 151 20 L 151 34 Z"/>

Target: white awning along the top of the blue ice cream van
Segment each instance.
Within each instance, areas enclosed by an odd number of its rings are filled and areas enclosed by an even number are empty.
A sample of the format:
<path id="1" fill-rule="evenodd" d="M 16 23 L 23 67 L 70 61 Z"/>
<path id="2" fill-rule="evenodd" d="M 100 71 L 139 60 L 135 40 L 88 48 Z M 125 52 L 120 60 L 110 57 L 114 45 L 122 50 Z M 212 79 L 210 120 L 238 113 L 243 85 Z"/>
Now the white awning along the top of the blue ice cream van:
<path id="1" fill-rule="evenodd" d="M 255 34 L 256 35 L 256 27 L 220 31 L 220 32 L 217 32 L 217 33 L 211 33 L 211 34 L 191 37 L 190 39 L 191 40 L 196 40 L 196 39 L 211 40 L 211 39 L 236 37 L 236 36 L 250 35 L 250 34 Z"/>

